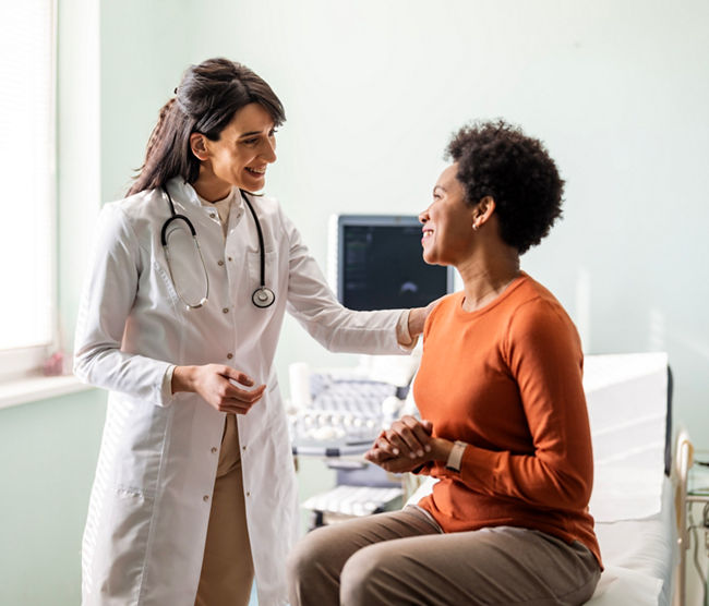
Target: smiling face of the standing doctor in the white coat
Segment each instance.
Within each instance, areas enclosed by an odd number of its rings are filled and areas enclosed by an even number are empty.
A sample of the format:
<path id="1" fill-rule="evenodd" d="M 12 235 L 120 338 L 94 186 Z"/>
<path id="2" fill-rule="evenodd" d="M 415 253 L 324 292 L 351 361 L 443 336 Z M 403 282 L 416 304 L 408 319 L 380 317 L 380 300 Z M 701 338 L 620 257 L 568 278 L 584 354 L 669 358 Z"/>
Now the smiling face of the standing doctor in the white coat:
<path id="1" fill-rule="evenodd" d="M 217 141 L 193 133 L 192 153 L 201 160 L 194 183 L 197 193 L 215 201 L 226 196 L 231 185 L 248 192 L 263 190 L 266 167 L 276 161 L 275 133 L 272 116 L 256 102 L 238 110 Z"/>

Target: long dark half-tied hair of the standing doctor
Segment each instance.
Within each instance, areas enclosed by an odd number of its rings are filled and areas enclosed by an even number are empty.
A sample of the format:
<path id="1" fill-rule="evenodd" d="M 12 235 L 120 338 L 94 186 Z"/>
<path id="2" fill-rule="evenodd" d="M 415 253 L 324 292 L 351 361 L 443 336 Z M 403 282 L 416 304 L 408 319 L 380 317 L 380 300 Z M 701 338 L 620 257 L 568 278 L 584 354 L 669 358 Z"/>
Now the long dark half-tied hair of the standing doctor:
<path id="1" fill-rule="evenodd" d="M 218 141 L 233 116 L 249 104 L 261 105 L 275 126 L 286 120 L 284 106 L 261 77 L 249 68 L 217 58 L 191 65 L 163 108 L 147 142 L 145 161 L 128 195 L 165 185 L 173 177 L 194 183 L 200 160 L 192 154 L 190 135 L 202 133 Z"/>

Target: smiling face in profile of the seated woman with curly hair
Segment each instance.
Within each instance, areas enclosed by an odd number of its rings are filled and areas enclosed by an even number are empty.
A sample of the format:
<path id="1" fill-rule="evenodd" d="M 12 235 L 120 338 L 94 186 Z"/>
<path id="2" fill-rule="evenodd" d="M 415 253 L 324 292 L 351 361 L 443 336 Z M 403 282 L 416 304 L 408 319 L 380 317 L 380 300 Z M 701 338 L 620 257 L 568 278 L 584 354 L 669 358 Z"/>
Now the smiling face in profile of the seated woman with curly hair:
<path id="1" fill-rule="evenodd" d="M 473 210 L 465 201 L 465 190 L 456 179 L 458 166 L 446 168 L 433 187 L 433 202 L 419 215 L 423 223 L 423 260 L 454 265 L 471 253 Z"/>

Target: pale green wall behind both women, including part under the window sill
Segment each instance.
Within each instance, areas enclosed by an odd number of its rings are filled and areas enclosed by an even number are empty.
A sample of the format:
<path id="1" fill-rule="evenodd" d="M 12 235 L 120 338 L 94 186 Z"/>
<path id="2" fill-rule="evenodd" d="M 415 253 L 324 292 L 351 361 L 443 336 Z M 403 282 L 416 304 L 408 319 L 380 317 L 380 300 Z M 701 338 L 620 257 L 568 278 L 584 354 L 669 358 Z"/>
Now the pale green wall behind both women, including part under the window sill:
<path id="1" fill-rule="evenodd" d="M 323 265 L 331 213 L 428 204 L 445 142 L 464 121 L 503 116 L 544 138 L 567 181 L 566 215 L 526 269 L 558 294 L 588 351 L 668 350 L 676 419 L 709 445 L 706 2 L 112 0 L 100 15 L 98 7 L 59 0 L 69 336 L 99 201 L 125 190 L 187 64 L 224 54 L 285 102 L 268 193 Z M 353 362 L 288 320 L 281 378 L 296 360 Z M 88 391 L 0 410 L 0 603 L 76 604 L 104 407 Z"/>

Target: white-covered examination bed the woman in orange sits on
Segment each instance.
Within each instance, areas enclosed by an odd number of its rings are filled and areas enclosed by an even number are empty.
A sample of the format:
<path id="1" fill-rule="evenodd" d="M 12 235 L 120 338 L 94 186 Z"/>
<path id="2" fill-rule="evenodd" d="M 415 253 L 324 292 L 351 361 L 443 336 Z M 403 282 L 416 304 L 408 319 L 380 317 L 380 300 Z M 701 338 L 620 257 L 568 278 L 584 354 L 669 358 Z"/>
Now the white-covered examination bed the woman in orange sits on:
<path id="1" fill-rule="evenodd" d="M 605 566 L 588 604 L 670 606 L 678 549 L 666 354 L 588 355 L 584 387 L 594 459 L 589 507 Z M 408 502 L 431 486 L 426 478 Z"/>

